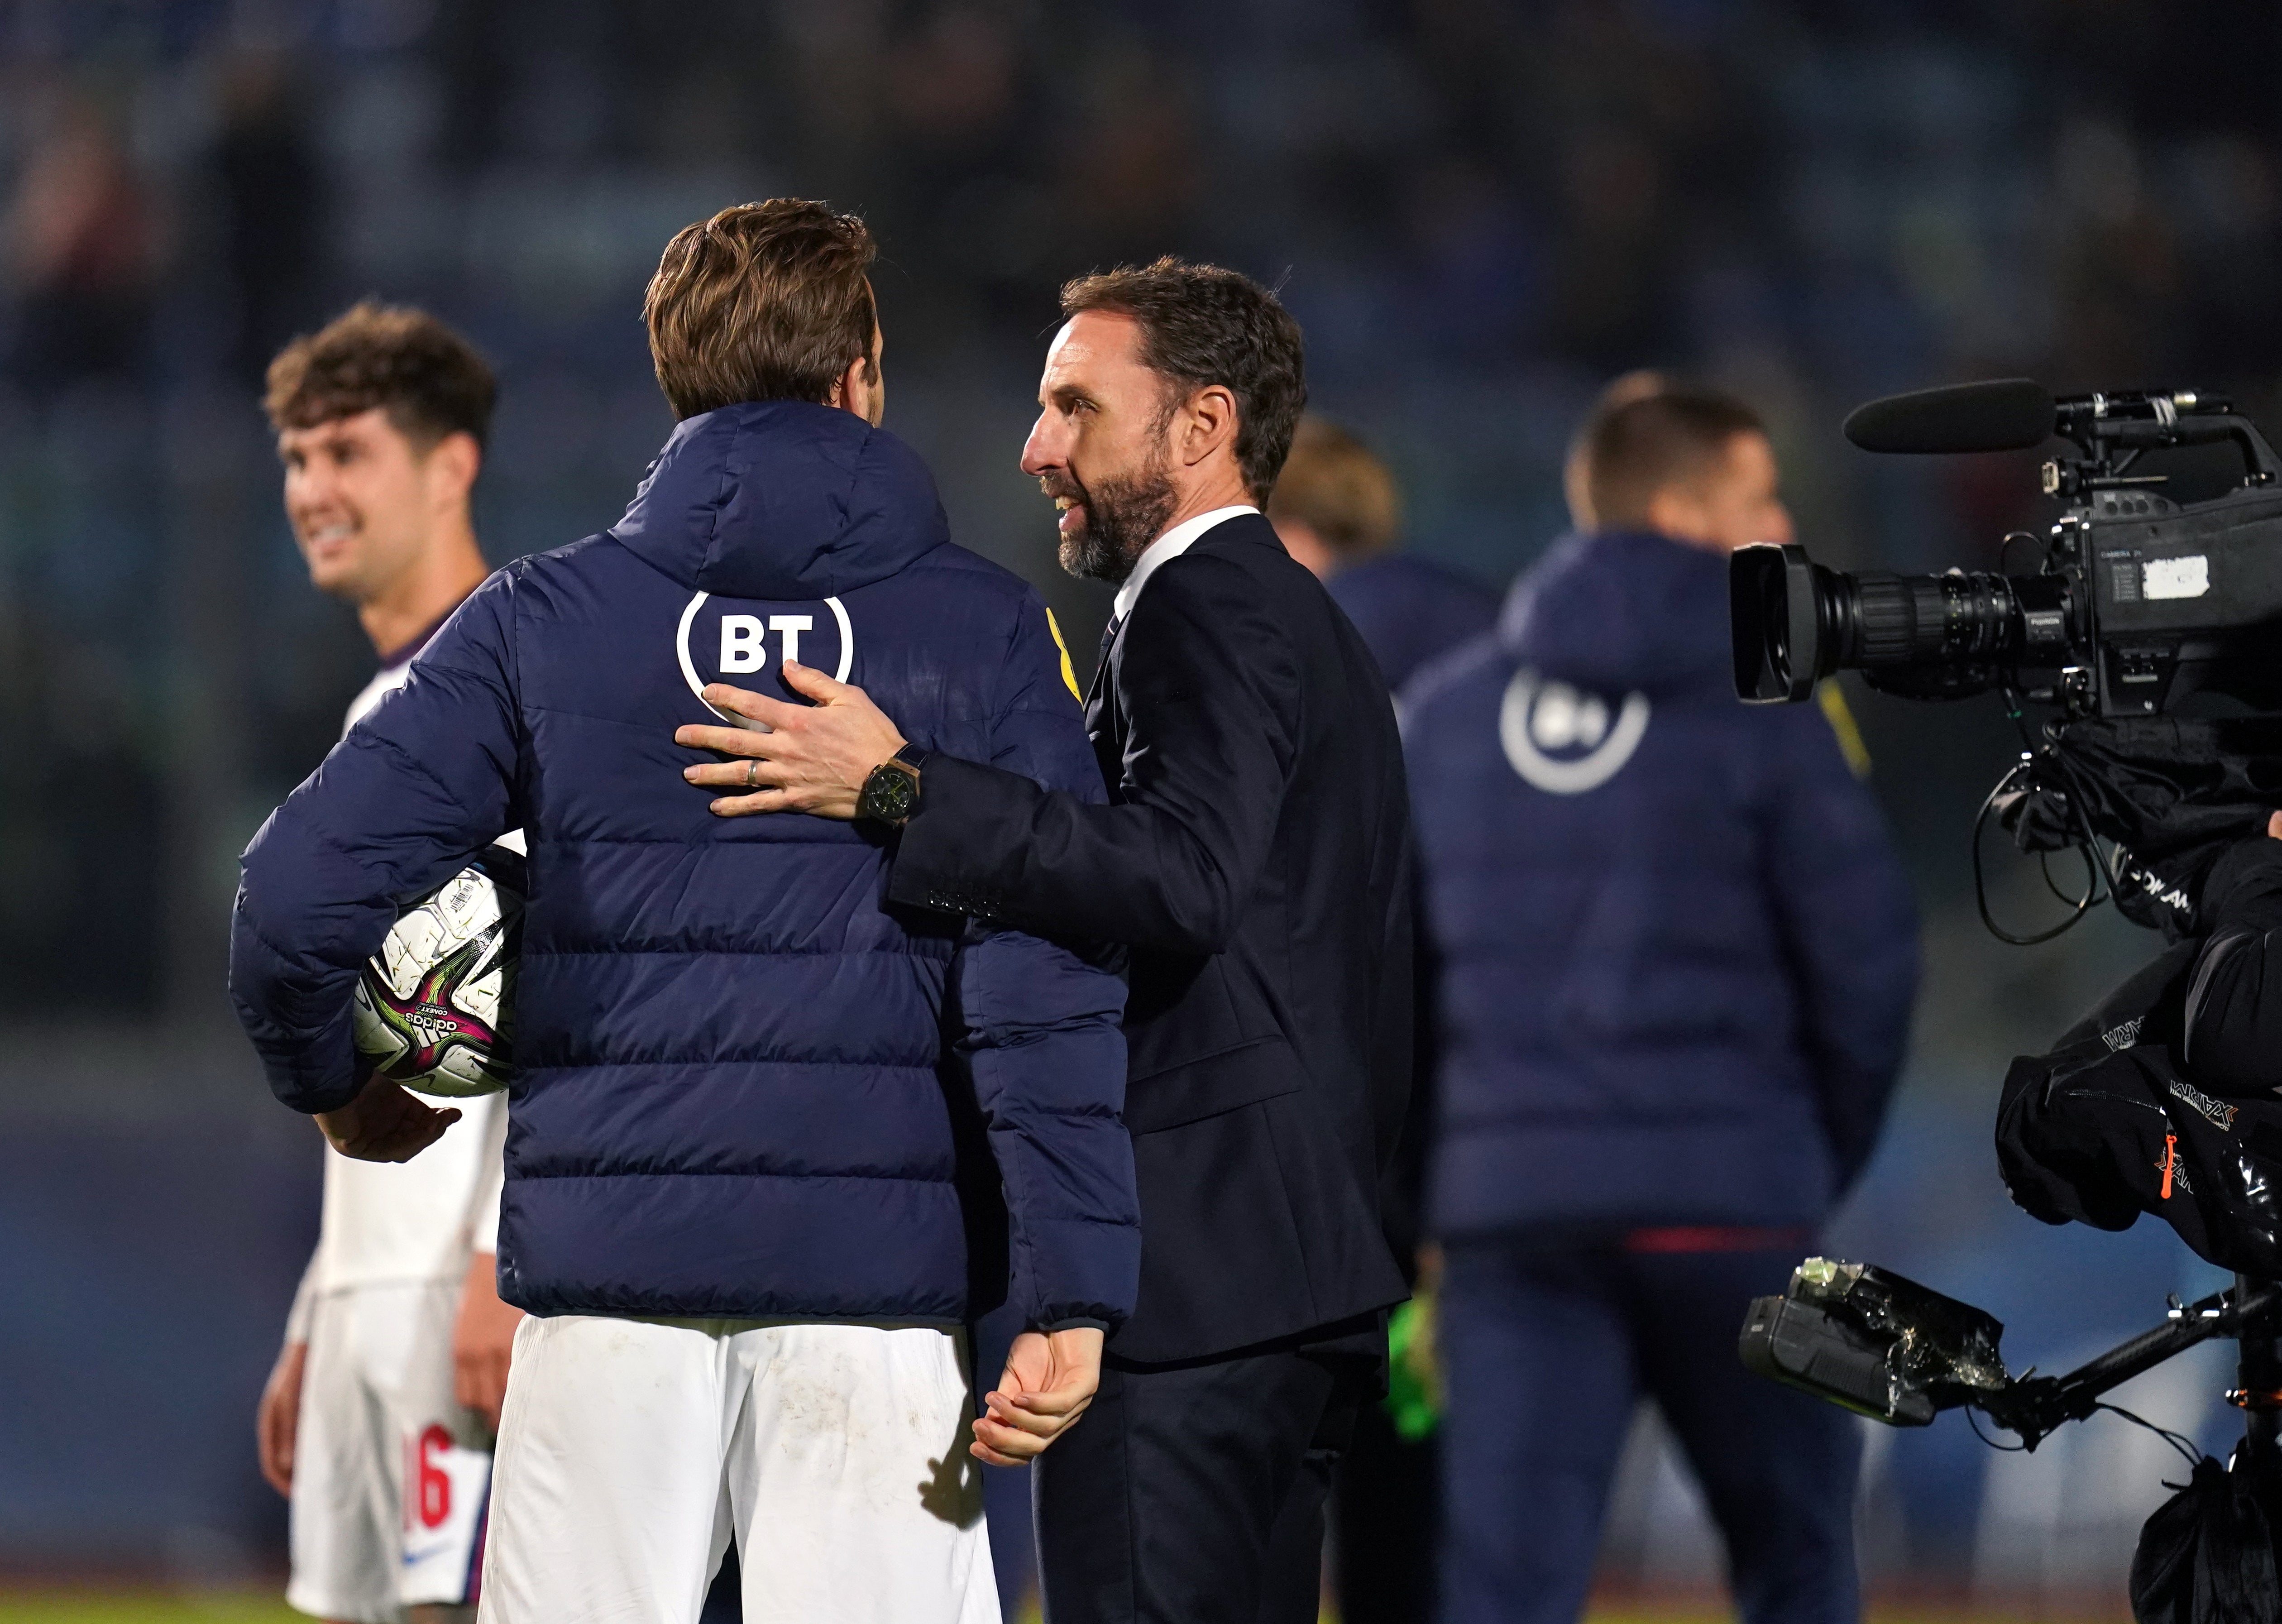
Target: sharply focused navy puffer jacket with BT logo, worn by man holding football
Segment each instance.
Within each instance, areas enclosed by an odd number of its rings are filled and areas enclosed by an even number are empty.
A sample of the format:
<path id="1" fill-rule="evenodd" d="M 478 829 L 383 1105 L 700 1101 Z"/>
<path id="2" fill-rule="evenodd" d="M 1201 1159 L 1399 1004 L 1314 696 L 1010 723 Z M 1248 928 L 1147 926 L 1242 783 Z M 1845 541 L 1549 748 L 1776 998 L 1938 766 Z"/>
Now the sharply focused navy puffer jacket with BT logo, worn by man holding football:
<path id="1" fill-rule="evenodd" d="M 616 529 L 493 575 L 244 855 L 230 985 L 278 1097 L 358 1088 L 397 908 L 529 839 L 500 1293 L 534 1314 L 1118 1323 L 1120 979 L 883 903 L 874 826 L 717 819 L 673 728 L 778 659 L 922 746 L 1102 796 L 1038 595 L 863 420 L 682 422 Z M 1000 1202 L 1004 1200 L 1004 1209 Z"/>

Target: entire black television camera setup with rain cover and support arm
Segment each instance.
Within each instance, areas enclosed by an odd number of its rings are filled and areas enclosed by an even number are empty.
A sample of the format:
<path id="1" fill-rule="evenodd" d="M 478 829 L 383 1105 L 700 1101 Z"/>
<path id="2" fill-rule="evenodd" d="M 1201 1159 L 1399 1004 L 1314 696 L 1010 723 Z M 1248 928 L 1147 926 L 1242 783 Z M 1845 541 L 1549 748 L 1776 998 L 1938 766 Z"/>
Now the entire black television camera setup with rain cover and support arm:
<path id="1" fill-rule="evenodd" d="M 1846 438 L 1905 454 L 2061 440 L 2042 486 L 2063 511 L 2042 536 L 2006 536 L 1994 573 L 1842 573 L 1805 547 L 1743 547 L 1730 563 L 1737 693 L 1798 703 L 1823 677 L 1860 671 L 1903 698 L 2004 696 L 2022 755 L 1974 819 L 1988 928 L 2045 942 L 2104 892 L 2175 942 L 2058 1049 L 2013 1063 L 1999 1109 L 2006 1184 L 2047 1223 L 2115 1229 L 2156 1213 L 2236 1273 L 2230 1291 L 2172 1300 L 2166 1323 L 2077 1371 L 2013 1375 L 1999 1357 L 2004 1327 L 1981 1309 L 1874 1266 L 1807 1259 L 1787 1293 L 1750 1305 L 1741 1355 L 1892 1426 L 1963 1407 L 2036 1448 L 2067 1421 L 2115 1410 L 2104 1394 L 2120 1382 L 2234 1339 L 2227 1396 L 2248 1412 L 2245 1439 L 2230 1471 L 2198 1460 L 2134 1565 L 2134 1610 L 2170 1617 L 2163 1597 L 2211 1572 L 2179 1556 L 2186 1530 L 2241 1551 L 2282 1530 L 2282 1159 L 2266 1154 L 2282 1143 L 2282 1104 L 2214 1099 L 2179 1036 L 2209 931 L 2198 887 L 2282 807 L 2282 458 L 2223 399 L 2054 397 L 2026 379 L 1871 401 L 1846 420 Z M 2017 573 L 2004 568 L 2015 547 L 2031 554 Z M 2049 707 L 2036 730 L 2029 705 Z M 2015 935 L 1990 915 L 1981 846 L 1992 817 L 2024 853 L 2083 855 L 2079 896 L 2047 874 L 2072 908 L 2058 926 Z M 2223 1528 L 2236 1533 L 2214 1533 Z M 2282 1592 L 2266 1594 L 2273 1560 L 2257 1572 L 2252 1613 L 2282 1613 Z"/>

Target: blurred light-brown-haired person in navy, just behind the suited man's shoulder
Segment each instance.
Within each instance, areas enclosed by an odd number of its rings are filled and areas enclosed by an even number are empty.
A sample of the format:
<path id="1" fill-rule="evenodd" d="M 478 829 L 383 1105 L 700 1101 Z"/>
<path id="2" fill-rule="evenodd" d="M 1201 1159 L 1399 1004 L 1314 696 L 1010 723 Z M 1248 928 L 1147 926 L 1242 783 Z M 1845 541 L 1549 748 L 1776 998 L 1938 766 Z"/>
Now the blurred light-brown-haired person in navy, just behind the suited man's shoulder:
<path id="1" fill-rule="evenodd" d="M 1394 552 L 1403 522 L 1394 474 L 1335 422 L 1298 420 L 1267 513 L 1285 552 L 1314 570 L 1362 632 L 1390 689 L 1497 620 L 1492 593 Z"/>

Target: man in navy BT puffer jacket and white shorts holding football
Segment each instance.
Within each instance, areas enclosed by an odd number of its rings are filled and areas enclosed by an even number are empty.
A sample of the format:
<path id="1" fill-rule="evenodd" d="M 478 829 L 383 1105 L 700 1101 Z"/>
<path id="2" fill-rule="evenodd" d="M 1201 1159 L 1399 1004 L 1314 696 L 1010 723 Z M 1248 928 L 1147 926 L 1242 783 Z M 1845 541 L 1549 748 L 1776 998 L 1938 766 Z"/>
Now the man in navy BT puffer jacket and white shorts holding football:
<path id="1" fill-rule="evenodd" d="M 678 776 L 698 689 L 794 657 L 1102 796 L 1038 595 L 874 427 L 869 255 L 815 203 L 675 237 L 646 312 L 682 422 L 625 518 L 493 575 L 244 858 L 272 1086 L 395 1159 L 450 1113 L 361 1086 L 358 965 L 529 837 L 500 1293 L 539 1318 L 486 1619 L 691 1619 L 730 1537 L 746 1619 L 995 1619 L 961 1325 L 1011 1291 L 1098 1355 L 1132 1309 L 1118 976 L 885 906 L 872 826 L 723 821 Z"/>

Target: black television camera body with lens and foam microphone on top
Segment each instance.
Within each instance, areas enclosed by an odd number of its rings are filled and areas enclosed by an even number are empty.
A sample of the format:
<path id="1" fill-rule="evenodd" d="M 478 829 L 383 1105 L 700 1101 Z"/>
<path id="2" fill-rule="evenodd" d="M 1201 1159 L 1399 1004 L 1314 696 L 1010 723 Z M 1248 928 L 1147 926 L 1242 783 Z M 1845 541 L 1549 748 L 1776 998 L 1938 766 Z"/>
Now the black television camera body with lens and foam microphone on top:
<path id="1" fill-rule="evenodd" d="M 2067 716 L 2147 716 L 2191 696 L 2282 709 L 2282 458 L 2227 401 L 2188 392 L 2054 399 L 2029 381 L 1871 401 L 1846 420 L 1871 452 L 2024 449 L 2061 436 L 2045 490 L 2070 502 L 2033 573 L 1846 575 L 1805 547 L 1730 563 L 1737 693 L 1805 700 L 1860 671 L 1908 698 L 1992 687 Z M 2150 452 L 2232 447 L 2239 481 L 2200 502 L 2134 472 Z"/>

